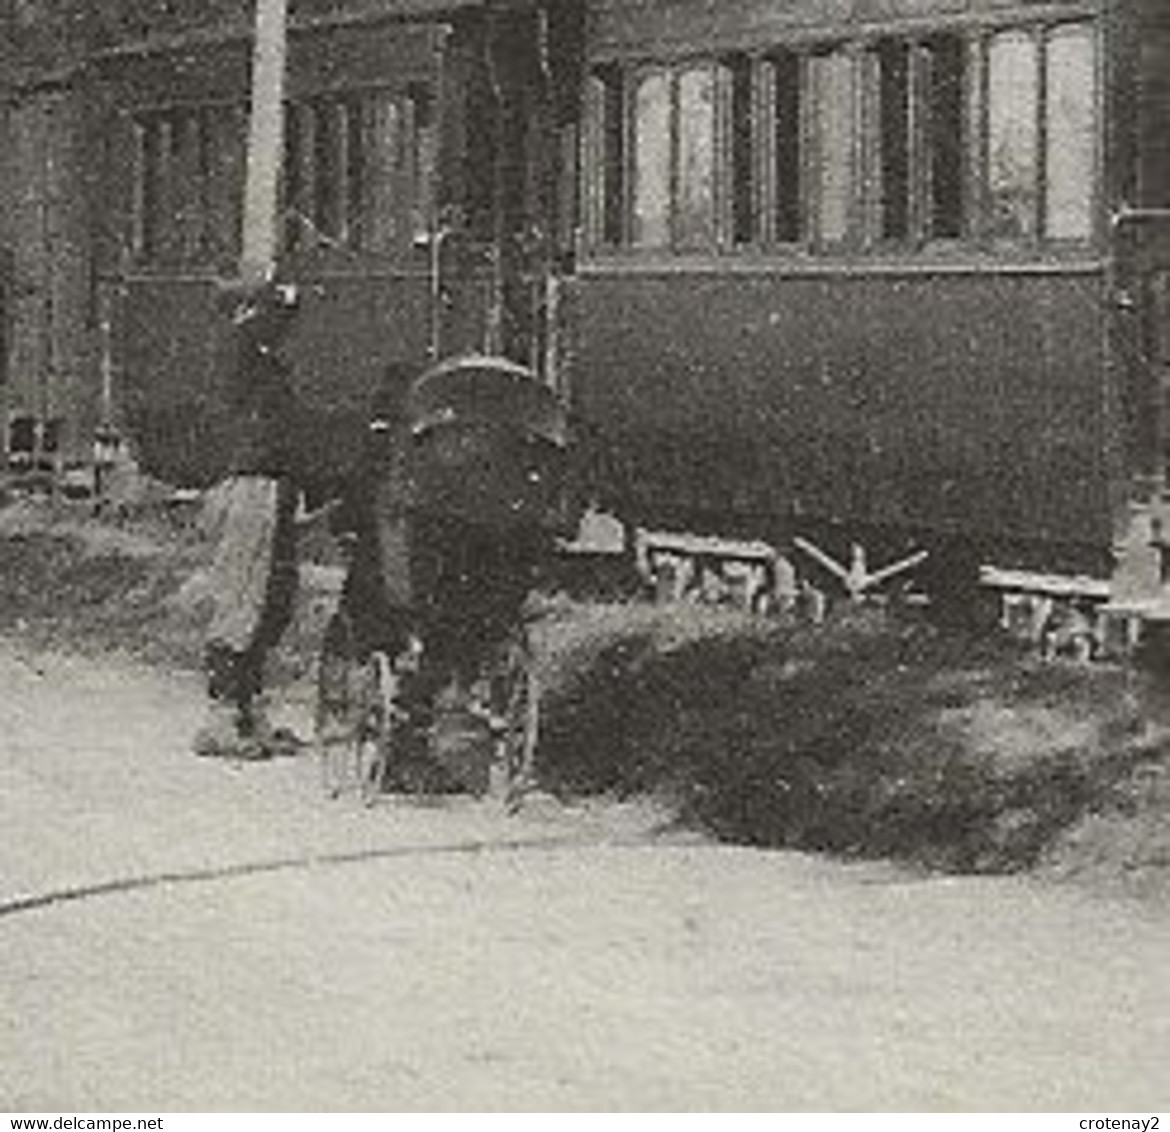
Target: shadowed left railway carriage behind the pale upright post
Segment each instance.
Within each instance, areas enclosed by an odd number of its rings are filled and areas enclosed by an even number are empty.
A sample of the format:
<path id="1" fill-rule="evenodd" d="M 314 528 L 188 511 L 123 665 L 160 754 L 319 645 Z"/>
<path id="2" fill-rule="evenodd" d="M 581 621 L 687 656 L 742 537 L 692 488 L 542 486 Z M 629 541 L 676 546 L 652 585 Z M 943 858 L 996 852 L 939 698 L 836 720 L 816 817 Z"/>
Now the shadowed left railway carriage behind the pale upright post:
<path id="1" fill-rule="evenodd" d="M 222 463 L 208 406 L 228 341 L 211 279 L 240 256 L 250 43 L 236 7 L 239 22 L 207 29 L 191 5 L 192 26 L 96 60 L 116 139 L 102 180 L 123 412 L 149 465 L 194 481 Z M 548 367 L 544 264 L 571 240 L 557 181 L 571 16 L 292 5 L 281 271 L 310 288 L 292 353 L 321 469 L 344 470 L 388 366 L 477 350 Z"/>

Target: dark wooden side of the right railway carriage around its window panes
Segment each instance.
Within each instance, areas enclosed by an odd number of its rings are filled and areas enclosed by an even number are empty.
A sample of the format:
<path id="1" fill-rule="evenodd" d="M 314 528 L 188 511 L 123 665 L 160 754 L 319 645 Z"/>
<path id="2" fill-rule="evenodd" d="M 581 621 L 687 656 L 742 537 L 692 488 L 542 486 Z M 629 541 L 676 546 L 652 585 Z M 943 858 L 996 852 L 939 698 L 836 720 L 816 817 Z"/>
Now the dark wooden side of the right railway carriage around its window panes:
<path id="1" fill-rule="evenodd" d="M 614 144 L 614 126 L 593 126 L 573 388 L 622 450 L 633 516 L 782 541 L 801 530 L 831 538 L 831 523 L 842 538 L 966 540 L 1016 565 L 1107 571 L 1142 471 L 1135 429 L 1154 408 L 1141 359 L 1119 331 L 1110 218 L 1164 201 L 1170 184 L 1158 140 L 1170 122 L 1170 32 L 1156 7 L 591 4 L 593 113 L 604 117 L 601 84 L 620 73 L 627 175 L 636 76 L 666 69 L 679 83 L 700 65 L 716 71 L 715 227 L 703 247 L 636 247 L 628 181 L 618 189 L 625 228 L 606 230 L 613 174 L 599 150 Z M 1075 239 L 1049 240 L 1042 229 L 999 239 L 979 143 L 992 97 L 989 44 L 1018 30 L 1047 44 L 1038 50 L 1051 57 L 1061 28 L 1090 29 L 1095 43 L 1092 218 Z M 874 212 L 880 189 L 867 180 L 880 175 L 883 144 L 879 56 L 883 44 L 929 51 L 938 37 L 964 53 L 962 228 L 885 240 Z M 768 167 L 779 144 L 778 111 L 766 105 L 779 82 L 776 61 L 797 60 L 801 69 L 799 144 L 811 149 L 818 108 L 810 69 L 841 50 L 856 82 L 847 230 L 832 246 L 818 241 L 810 223 L 817 174 L 806 158 L 804 227 L 780 239 L 778 174 Z M 742 189 L 736 120 L 729 124 L 742 112 L 737 67 L 753 73 L 750 116 L 762 151 L 748 158 L 756 167 L 746 210 L 759 215 L 749 218 L 755 230 L 745 239 L 736 230 Z M 916 106 L 911 113 L 930 110 L 921 94 Z M 929 140 L 917 137 L 925 150 Z M 920 152 L 911 163 L 924 159 Z"/>

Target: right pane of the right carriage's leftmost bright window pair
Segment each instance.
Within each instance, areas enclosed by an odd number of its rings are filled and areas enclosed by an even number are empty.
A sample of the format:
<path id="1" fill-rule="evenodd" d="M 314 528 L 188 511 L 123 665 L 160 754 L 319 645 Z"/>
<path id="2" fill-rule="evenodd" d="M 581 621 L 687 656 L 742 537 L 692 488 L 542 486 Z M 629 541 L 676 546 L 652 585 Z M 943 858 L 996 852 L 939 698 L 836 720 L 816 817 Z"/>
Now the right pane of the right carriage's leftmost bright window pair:
<path id="1" fill-rule="evenodd" d="M 687 70 L 677 83 L 675 240 L 703 248 L 715 243 L 715 71 Z"/>

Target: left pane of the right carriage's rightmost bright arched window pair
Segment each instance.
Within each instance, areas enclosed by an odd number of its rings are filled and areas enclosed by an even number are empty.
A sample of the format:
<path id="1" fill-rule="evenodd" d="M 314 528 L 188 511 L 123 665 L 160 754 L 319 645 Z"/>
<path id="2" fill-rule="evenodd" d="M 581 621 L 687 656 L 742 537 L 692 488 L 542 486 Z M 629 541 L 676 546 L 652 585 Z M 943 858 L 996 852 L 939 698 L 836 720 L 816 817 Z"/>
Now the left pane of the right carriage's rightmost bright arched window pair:
<path id="1" fill-rule="evenodd" d="M 1035 40 L 1006 32 L 987 55 L 987 195 L 996 236 L 1035 233 L 1040 81 Z"/>

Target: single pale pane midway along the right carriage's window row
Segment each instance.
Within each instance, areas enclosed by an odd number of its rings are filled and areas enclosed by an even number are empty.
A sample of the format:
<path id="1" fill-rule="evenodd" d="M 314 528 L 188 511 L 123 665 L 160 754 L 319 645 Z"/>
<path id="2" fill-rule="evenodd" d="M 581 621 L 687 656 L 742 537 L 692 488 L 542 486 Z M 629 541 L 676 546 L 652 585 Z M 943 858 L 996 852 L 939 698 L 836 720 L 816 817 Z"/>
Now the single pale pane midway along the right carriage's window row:
<path id="1" fill-rule="evenodd" d="M 811 63 L 817 104 L 817 235 L 824 243 L 835 243 L 848 235 L 853 203 L 853 60 L 839 50 L 818 55 Z"/>

